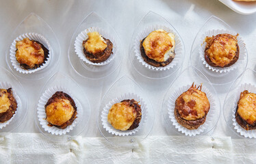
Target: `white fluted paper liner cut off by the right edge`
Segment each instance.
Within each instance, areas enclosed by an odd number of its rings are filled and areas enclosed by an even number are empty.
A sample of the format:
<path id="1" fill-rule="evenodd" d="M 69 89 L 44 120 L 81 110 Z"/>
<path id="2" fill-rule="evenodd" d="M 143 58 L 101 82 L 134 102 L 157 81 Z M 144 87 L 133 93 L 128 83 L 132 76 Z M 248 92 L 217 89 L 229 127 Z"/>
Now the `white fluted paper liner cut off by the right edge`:
<path id="1" fill-rule="evenodd" d="M 248 92 L 251 92 L 251 93 L 256 93 L 256 87 L 255 87 L 255 85 L 252 85 L 251 83 L 244 83 L 244 84 L 242 84 L 239 87 L 238 92 L 235 94 L 234 102 L 233 102 L 233 105 L 232 105 L 232 121 L 233 121 L 233 126 L 234 126 L 235 130 L 238 133 L 240 133 L 240 135 L 242 135 L 242 136 L 244 136 L 246 138 L 247 137 L 248 138 L 256 138 L 256 130 L 246 131 L 235 120 L 235 112 L 236 112 L 236 108 L 238 107 L 238 101 L 240 99 L 240 94 L 241 94 L 241 92 L 244 92 L 244 90 L 248 90 Z"/>

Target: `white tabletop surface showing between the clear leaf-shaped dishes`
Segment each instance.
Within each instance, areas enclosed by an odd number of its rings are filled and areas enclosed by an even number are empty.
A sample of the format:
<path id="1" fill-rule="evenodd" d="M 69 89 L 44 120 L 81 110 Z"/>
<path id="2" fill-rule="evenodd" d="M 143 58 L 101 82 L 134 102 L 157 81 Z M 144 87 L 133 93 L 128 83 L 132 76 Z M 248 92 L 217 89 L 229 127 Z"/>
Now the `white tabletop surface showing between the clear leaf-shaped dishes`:
<path id="1" fill-rule="evenodd" d="M 205 21 L 212 15 L 217 16 L 229 24 L 235 31 L 240 33 L 244 38 L 248 50 L 248 68 L 255 68 L 256 61 L 256 14 L 241 15 L 233 12 L 220 1 L 201 1 L 201 0 L 141 0 L 141 1 L 114 1 L 114 0 L 97 0 L 97 1 L 44 1 L 44 0 L 23 0 L 23 1 L 4 1 L 1 0 L 0 10 L 0 65 L 9 70 L 5 62 L 5 51 L 8 51 L 10 44 L 6 42 L 8 36 L 12 34 L 18 23 L 34 12 L 38 14 L 56 33 L 60 42 L 60 62 L 55 71 L 61 71 L 81 85 L 86 90 L 90 101 L 91 116 L 88 131 L 81 135 L 83 137 L 101 137 L 97 128 L 97 119 L 99 114 L 100 100 L 110 88 L 112 83 L 119 77 L 126 75 L 135 79 L 142 87 L 144 92 L 149 95 L 155 110 L 155 123 L 150 135 L 167 135 L 161 117 L 161 108 L 164 95 L 175 77 L 168 77 L 162 80 L 151 80 L 134 75 L 135 70 L 129 66 L 129 44 L 133 30 L 140 20 L 149 11 L 153 11 L 168 20 L 179 31 L 185 44 L 185 59 L 181 70 L 190 65 L 190 49 L 196 33 L 203 26 Z M 73 33 L 79 23 L 90 14 L 97 12 L 99 16 L 105 19 L 118 33 L 123 44 L 123 60 L 118 68 L 118 74 L 115 78 L 105 78 L 101 80 L 88 80 L 79 77 L 72 70 L 68 62 L 68 46 Z M 25 81 L 18 78 L 27 92 L 29 100 L 28 113 L 21 126 L 16 129 L 16 133 L 39 133 L 34 124 L 34 110 L 37 104 L 38 91 L 48 81 L 49 76 L 42 80 Z M 216 87 L 221 105 L 225 100 L 229 87 Z M 232 136 L 227 131 L 227 124 L 222 116 L 214 131 L 208 135 L 212 136 Z M 233 136 L 235 137 L 235 136 Z"/>

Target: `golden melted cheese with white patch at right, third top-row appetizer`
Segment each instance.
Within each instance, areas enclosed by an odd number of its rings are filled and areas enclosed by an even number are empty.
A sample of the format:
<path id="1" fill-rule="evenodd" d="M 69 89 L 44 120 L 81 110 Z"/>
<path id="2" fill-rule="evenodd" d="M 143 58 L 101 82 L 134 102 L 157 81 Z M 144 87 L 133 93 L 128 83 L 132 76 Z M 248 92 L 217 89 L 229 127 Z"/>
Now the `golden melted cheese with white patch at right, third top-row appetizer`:
<path id="1" fill-rule="evenodd" d="M 175 35 L 163 29 L 149 33 L 142 46 L 146 56 L 157 62 L 164 62 L 169 57 L 175 57 Z"/>

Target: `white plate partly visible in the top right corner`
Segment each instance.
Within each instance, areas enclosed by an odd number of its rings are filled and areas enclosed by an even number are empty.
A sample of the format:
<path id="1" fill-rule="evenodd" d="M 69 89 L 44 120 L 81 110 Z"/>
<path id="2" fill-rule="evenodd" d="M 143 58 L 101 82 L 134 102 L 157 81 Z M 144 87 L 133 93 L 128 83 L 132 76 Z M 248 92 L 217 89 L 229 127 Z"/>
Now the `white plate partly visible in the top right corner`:
<path id="1" fill-rule="evenodd" d="M 246 2 L 246 1 L 233 1 L 233 0 L 219 0 L 231 10 L 238 12 L 239 14 L 253 14 L 256 12 L 256 1 Z"/>

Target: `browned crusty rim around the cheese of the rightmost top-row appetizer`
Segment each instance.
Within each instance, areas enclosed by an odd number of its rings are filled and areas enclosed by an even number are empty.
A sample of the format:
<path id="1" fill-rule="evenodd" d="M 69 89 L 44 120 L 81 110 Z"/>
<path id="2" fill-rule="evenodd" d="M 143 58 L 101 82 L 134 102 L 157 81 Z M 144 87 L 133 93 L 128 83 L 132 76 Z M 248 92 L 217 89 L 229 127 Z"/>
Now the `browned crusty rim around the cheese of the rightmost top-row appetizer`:
<path id="1" fill-rule="evenodd" d="M 205 46 L 205 61 L 207 62 L 207 64 L 209 64 L 210 66 L 214 66 L 214 67 L 219 67 L 219 68 L 225 68 L 225 67 L 229 67 L 232 66 L 233 64 L 235 64 L 236 61 L 238 61 L 239 58 L 239 54 L 240 54 L 240 49 L 238 46 L 238 42 L 235 44 L 237 49 L 235 52 L 235 57 L 233 57 L 233 59 L 229 62 L 229 64 L 226 64 L 225 66 L 220 66 L 219 64 L 215 64 L 211 61 L 210 57 L 209 57 L 209 53 L 207 53 L 207 50 L 210 48 L 210 46 L 212 45 L 212 43 L 214 42 L 214 40 L 217 40 L 220 36 L 227 36 L 230 39 L 233 39 L 233 36 L 228 34 L 228 33 L 222 33 L 222 34 L 218 34 L 217 36 L 212 36 L 212 40 L 210 40 L 209 42 L 207 42 L 206 46 Z"/>

